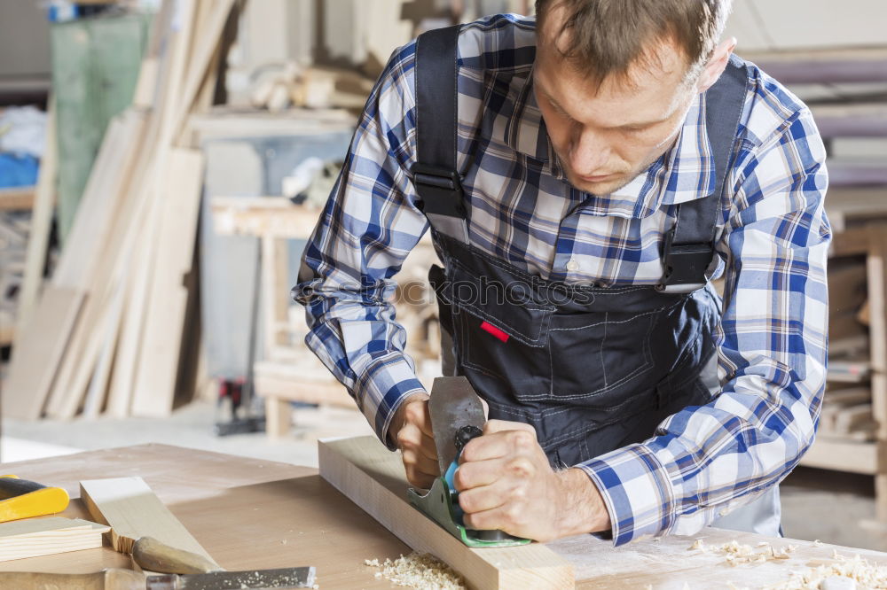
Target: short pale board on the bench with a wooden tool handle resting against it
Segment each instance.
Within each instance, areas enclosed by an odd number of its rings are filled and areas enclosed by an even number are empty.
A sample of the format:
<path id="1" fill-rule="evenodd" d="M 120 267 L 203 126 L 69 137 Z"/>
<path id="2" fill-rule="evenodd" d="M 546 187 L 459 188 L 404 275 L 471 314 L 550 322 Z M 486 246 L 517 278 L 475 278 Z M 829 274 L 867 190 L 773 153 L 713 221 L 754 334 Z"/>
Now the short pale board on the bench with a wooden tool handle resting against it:
<path id="1" fill-rule="evenodd" d="M 153 537 L 216 563 L 141 477 L 88 479 L 80 482 L 80 497 L 93 518 L 111 527 L 117 551 L 131 553 L 140 537 Z"/>

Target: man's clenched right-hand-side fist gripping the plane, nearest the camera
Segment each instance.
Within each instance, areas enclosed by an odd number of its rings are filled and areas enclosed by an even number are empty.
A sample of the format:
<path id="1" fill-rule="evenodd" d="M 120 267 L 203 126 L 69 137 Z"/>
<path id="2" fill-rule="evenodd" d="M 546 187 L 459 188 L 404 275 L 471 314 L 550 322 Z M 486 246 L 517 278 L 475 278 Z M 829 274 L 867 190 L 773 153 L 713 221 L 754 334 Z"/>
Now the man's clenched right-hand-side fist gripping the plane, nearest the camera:
<path id="1" fill-rule="evenodd" d="M 453 483 L 467 528 L 538 541 L 610 528 L 592 480 L 578 469 L 553 471 L 528 424 L 486 423 L 462 449 Z"/>

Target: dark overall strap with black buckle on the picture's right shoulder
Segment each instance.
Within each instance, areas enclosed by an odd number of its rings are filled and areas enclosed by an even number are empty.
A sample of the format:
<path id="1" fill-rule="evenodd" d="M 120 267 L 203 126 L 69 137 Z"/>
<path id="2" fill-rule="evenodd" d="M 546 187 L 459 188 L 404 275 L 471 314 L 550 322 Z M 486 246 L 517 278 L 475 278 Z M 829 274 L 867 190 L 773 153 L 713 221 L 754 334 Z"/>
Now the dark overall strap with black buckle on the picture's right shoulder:
<path id="1" fill-rule="evenodd" d="M 739 135 L 739 120 L 748 89 L 748 68 L 735 56 L 718 82 L 705 92 L 705 126 L 715 163 L 715 190 L 678 206 L 678 218 L 666 234 L 663 247 L 665 273 L 660 291 L 690 292 L 706 283 L 705 270 L 714 256 L 714 234 L 722 198 L 729 198 L 727 174 Z"/>

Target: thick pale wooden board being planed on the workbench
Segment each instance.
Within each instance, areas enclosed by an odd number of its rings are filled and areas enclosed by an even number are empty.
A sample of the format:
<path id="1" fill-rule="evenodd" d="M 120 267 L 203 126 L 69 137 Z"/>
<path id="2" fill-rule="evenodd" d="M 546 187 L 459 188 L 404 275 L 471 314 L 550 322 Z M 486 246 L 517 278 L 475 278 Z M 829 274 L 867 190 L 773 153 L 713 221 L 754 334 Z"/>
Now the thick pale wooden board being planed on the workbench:
<path id="1" fill-rule="evenodd" d="M 572 588 L 573 567 L 540 543 L 472 549 L 406 500 L 400 455 L 374 437 L 321 440 L 320 475 L 413 549 L 435 555 L 475 588 Z"/>

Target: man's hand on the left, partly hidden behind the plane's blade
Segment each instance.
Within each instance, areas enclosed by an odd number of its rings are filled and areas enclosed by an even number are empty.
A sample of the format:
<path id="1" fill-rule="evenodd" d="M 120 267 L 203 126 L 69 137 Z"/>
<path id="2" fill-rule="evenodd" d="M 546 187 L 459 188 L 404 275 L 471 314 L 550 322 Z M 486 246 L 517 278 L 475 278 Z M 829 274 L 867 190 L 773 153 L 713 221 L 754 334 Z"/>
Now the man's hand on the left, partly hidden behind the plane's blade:
<path id="1" fill-rule="evenodd" d="M 417 393 L 404 400 L 391 420 L 389 437 L 403 455 L 407 481 L 423 490 L 430 488 L 440 476 L 440 467 L 427 394 Z"/>

